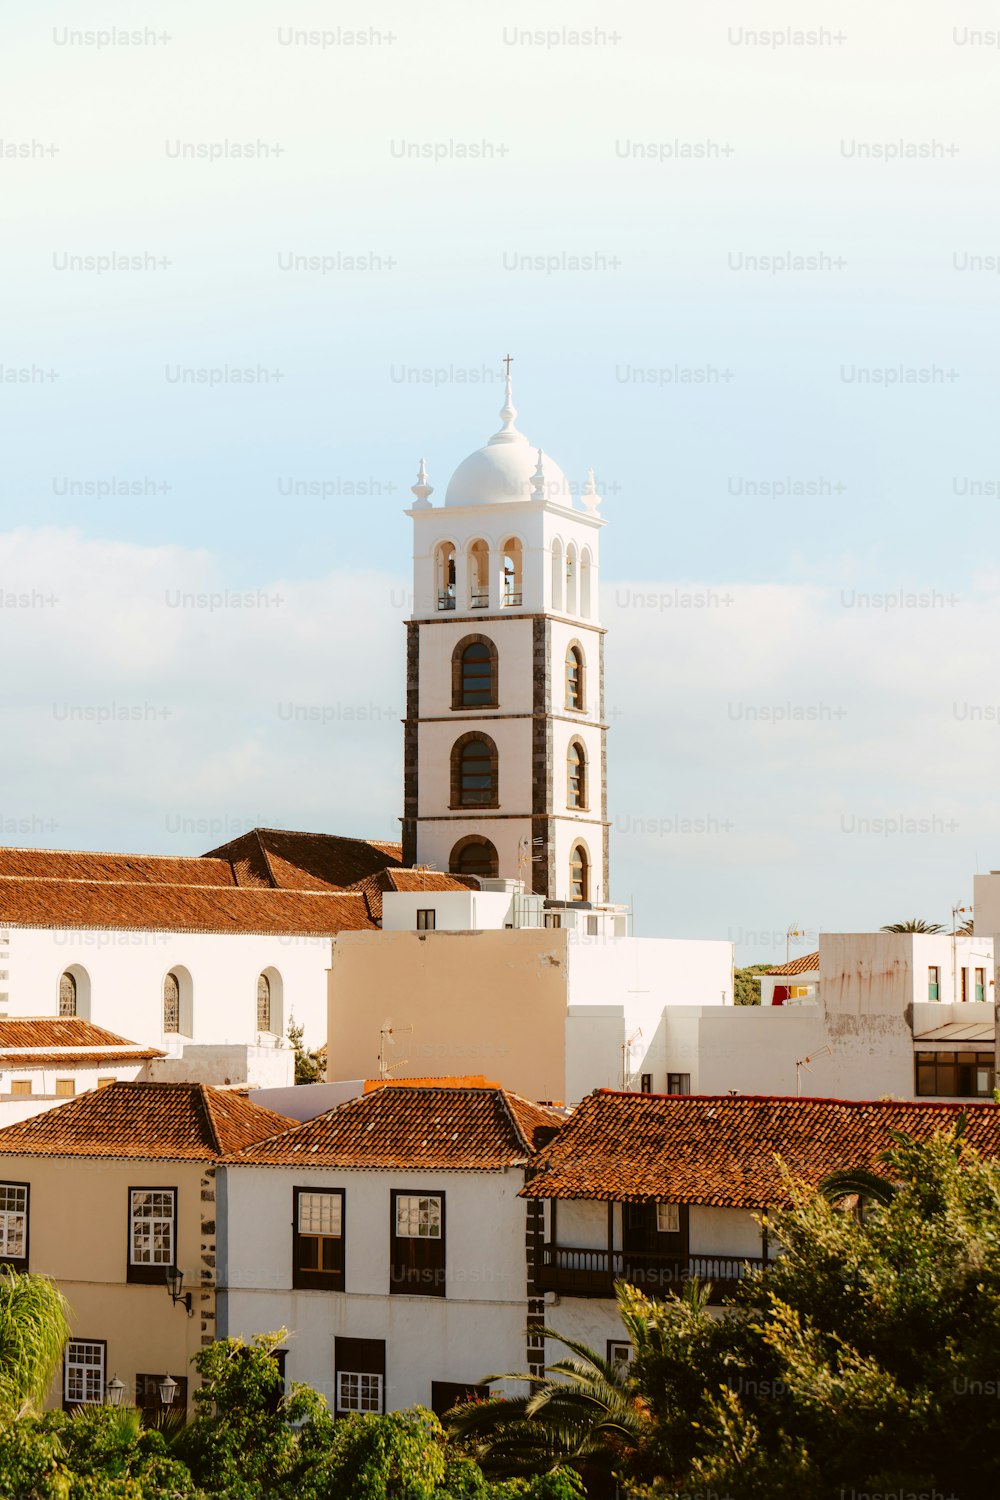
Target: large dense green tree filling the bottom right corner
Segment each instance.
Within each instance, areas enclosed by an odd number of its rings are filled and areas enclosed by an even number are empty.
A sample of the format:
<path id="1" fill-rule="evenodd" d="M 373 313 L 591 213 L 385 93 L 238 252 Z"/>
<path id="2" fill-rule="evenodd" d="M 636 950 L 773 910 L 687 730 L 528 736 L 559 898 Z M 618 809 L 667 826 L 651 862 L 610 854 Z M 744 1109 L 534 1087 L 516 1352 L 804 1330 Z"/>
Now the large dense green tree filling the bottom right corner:
<path id="1" fill-rule="evenodd" d="M 1000 1164 L 945 1132 L 898 1137 L 883 1166 L 864 1218 L 835 1188 L 796 1192 L 771 1216 L 783 1254 L 721 1317 L 697 1288 L 621 1288 L 654 1492 L 1000 1492 Z"/>

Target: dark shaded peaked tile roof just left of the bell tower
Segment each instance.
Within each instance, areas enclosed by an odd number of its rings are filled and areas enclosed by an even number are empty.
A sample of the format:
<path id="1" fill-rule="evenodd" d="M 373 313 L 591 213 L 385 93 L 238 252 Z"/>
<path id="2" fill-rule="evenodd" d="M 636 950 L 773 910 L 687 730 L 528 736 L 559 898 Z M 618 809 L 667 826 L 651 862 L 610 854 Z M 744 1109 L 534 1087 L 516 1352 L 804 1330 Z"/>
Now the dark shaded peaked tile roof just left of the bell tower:
<path id="1" fill-rule="evenodd" d="M 400 844 L 336 834 L 255 828 L 205 858 L 226 860 L 238 885 L 268 885 L 285 891 L 343 891 L 387 864 L 399 864 Z"/>

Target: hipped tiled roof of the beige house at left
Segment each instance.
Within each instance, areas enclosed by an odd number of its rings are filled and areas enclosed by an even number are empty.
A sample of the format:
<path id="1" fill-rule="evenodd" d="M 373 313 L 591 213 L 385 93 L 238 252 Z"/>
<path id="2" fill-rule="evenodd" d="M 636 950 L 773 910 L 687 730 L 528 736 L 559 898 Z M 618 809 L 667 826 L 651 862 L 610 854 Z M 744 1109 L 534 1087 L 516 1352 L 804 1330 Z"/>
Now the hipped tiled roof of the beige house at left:
<path id="1" fill-rule="evenodd" d="M 0 1156 L 211 1161 L 292 1125 L 204 1083 L 109 1083 L 0 1130 Z"/>

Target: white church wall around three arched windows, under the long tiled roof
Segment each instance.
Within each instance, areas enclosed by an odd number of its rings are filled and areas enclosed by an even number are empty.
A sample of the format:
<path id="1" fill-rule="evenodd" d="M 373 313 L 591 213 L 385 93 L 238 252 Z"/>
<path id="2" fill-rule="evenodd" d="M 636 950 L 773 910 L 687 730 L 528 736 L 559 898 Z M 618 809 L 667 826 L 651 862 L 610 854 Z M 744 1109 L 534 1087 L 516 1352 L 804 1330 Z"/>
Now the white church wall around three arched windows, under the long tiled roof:
<path id="1" fill-rule="evenodd" d="M 57 1016 L 58 978 L 82 969 L 88 1006 L 79 1014 L 129 1041 L 163 1046 L 163 978 L 171 969 L 192 976 L 196 1042 L 256 1040 L 256 980 L 280 975 L 282 1034 L 288 1020 L 306 1028 L 319 1046 L 327 1029 L 330 939 L 259 933 L 159 933 L 84 928 L 9 927 L 9 1002 L 6 1014 Z"/>

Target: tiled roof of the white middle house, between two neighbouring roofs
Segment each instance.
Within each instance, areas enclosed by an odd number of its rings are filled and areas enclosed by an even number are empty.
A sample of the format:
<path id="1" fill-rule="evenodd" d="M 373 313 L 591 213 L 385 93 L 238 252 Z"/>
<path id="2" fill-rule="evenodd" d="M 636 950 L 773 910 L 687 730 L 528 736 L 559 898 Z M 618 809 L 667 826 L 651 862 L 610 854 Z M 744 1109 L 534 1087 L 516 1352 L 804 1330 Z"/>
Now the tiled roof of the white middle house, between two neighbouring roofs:
<path id="1" fill-rule="evenodd" d="M 376 1089 L 249 1146 L 232 1164 L 499 1172 L 532 1155 L 538 1130 L 561 1124 L 555 1110 L 507 1089 Z"/>

